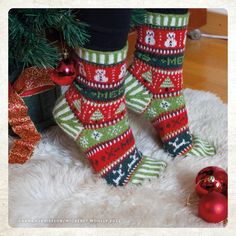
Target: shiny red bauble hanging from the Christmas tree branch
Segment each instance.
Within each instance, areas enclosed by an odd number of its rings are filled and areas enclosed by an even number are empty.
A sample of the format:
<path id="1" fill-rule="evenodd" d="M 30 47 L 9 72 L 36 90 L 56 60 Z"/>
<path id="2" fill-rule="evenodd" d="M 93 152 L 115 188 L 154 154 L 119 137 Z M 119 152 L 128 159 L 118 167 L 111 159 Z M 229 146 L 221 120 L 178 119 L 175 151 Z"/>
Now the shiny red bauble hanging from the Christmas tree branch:
<path id="1" fill-rule="evenodd" d="M 60 61 L 58 67 L 51 74 L 52 81 L 59 85 L 70 85 L 75 77 L 74 63 L 68 59 Z"/>

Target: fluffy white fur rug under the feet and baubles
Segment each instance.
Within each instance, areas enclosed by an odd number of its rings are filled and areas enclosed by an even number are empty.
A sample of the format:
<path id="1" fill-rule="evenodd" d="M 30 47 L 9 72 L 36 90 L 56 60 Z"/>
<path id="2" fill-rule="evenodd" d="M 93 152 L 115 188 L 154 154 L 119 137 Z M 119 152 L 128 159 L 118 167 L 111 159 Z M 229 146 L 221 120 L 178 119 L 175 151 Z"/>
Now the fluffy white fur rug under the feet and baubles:
<path id="1" fill-rule="evenodd" d="M 143 186 L 115 188 L 95 176 L 76 145 L 58 127 L 44 134 L 31 160 L 9 166 L 9 223 L 19 227 L 222 227 L 185 206 L 199 170 L 227 168 L 227 107 L 214 94 L 185 90 L 190 129 L 212 142 L 214 157 L 171 158 L 147 122 L 130 114 L 139 149 L 168 163 Z M 196 196 L 195 196 L 196 197 Z"/>

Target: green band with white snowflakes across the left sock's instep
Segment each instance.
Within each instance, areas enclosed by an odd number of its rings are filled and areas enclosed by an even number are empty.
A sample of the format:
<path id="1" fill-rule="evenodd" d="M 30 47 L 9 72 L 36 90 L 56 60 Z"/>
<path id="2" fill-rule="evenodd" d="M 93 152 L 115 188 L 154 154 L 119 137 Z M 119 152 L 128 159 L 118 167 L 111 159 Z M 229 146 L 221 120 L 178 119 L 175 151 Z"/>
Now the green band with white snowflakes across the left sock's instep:
<path id="1" fill-rule="evenodd" d="M 86 151 L 92 146 L 96 146 L 99 143 L 107 142 L 123 134 L 128 130 L 128 117 L 127 115 L 114 125 L 106 126 L 96 130 L 85 129 L 82 131 L 80 138 L 77 140 L 83 151 Z"/>

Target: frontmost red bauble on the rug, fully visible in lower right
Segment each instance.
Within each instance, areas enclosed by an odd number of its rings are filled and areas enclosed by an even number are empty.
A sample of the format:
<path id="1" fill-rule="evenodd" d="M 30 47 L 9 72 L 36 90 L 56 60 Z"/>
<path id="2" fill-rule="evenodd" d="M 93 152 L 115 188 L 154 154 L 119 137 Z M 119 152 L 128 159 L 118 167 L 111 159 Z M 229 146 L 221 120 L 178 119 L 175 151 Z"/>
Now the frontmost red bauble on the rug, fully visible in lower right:
<path id="1" fill-rule="evenodd" d="M 203 196 L 198 205 L 198 216 L 210 223 L 219 223 L 227 218 L 227 198 L 217 192 Z"/>

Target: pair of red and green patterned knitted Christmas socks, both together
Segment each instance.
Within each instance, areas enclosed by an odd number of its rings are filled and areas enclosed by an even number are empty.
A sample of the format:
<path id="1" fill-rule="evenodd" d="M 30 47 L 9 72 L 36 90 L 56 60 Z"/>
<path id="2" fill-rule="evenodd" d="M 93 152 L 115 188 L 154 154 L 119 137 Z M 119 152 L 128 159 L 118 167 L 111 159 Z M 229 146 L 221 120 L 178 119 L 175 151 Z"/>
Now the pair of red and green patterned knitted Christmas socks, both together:
<path id="1" fill-rule="evenodd" d="M 53 113 L 109 184 L 142 183 L 159 176 L 166 167 L 165 162 L 145 157 L 137 149 L 126 103 L 153 124 L 172 156 L 213 151 L 200 141 L 194 149 L 188 128 L 181 92 L 187 21 L 187 14 L 147 12 L 145 23 L 138 27 L 129 72 L 127 45 L 114 51 L 77 50 L 78 76 Z"/>

